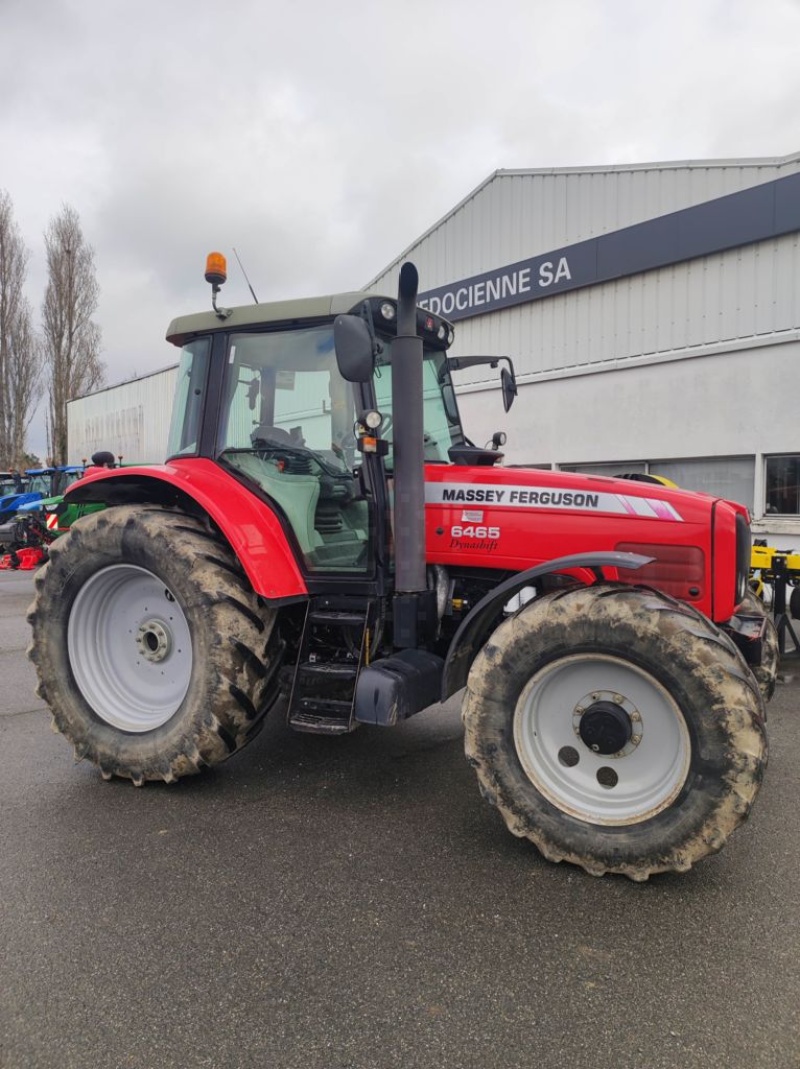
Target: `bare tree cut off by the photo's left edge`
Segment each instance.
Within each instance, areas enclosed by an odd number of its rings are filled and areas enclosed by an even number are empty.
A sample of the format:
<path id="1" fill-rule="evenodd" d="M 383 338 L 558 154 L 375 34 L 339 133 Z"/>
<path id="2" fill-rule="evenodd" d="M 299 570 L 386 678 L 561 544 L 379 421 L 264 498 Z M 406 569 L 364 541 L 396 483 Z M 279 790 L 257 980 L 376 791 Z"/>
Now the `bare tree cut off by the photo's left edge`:
<path id="1" fill-rule="evenodd" d="M 0 190 L 0 467 L 25 464 L 25 436 L 41 396 L 42 353 L 24 294 L 29 252 Z"/>

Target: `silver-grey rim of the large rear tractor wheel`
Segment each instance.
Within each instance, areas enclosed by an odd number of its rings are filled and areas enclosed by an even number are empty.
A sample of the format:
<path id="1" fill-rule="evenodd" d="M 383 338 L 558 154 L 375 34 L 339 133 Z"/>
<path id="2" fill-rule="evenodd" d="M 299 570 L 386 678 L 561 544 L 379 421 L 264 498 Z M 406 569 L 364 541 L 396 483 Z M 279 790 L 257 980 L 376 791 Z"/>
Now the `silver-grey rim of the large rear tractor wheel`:
<path id="1" fill-rule="evenodd" d="M 70 613 L 67 649 L 83 698 L 122 731 L 166 724 L 188 690 L 189 625 L 164 583 L 144 568 L 112 564 L 81 587 Z"/>

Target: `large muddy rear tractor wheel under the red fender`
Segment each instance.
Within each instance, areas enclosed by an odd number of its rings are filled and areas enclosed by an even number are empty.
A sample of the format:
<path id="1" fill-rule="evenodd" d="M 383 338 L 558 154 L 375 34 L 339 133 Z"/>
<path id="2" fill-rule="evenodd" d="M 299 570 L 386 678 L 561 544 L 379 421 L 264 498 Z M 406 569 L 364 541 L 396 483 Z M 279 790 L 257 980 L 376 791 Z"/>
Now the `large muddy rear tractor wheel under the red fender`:
<path id="1" fill-rule="evenodd" d="M 277 695 L 275 614 L 191 516 L 121 506 L 50 546 L 28 611 L 37 694 L 76 760 L 172 783 L 257 732 Z"/>

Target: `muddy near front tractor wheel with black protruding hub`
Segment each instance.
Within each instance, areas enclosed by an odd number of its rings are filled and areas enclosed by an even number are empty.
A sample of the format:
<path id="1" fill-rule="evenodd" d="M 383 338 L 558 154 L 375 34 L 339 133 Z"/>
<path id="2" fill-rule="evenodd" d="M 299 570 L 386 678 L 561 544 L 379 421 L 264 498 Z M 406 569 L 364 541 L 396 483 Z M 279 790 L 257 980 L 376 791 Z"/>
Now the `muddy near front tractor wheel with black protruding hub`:
<path id="1" fill-rule="evenodd" d="M 716 853 L 767 764 L 764 703 L 734 644 L 656 591 L 545 594 L 476 657 L 465 748 L 509 830 L 552 862 L 647 880 Z"/>

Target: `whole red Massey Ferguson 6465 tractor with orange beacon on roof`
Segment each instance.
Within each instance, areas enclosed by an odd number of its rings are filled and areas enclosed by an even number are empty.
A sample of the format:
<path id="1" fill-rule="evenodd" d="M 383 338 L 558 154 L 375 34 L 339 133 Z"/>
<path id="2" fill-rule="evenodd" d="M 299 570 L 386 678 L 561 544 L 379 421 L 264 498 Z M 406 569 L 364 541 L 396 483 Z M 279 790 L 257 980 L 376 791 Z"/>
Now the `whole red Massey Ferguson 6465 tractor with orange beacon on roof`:
<path id="1" fill-rule="evenodd" d="M 587 872 L 683 871 L 748 816 L 774 685 L 747 511 L 499 465 L 464 435 L 452 327 L 399 295 L 217 307 L 181 347 L 160 466 L 50 548 L 40 695 L 105 778 L 217 764 L 278 699 L 297 731 L 391 726 L 465 688 L 466 755 L 514 835 Z M 508 366 L 506 366 L 508 365 Z"/>

